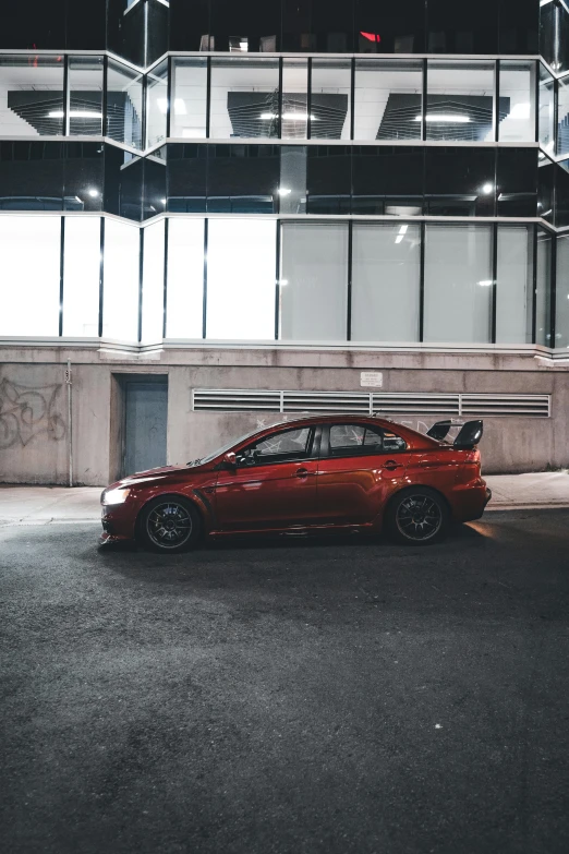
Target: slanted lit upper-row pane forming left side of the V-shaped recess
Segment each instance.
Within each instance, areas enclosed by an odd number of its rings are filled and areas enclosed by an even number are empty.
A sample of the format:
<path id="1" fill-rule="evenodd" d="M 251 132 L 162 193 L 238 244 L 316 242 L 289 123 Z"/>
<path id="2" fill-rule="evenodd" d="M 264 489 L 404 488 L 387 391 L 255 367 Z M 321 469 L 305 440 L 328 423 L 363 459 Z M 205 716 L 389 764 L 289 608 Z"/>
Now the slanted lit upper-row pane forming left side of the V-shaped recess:
<path id="1" fill-rule="evenodd" d="M 142 147 L 142 74 L 109 59 L 107 136 Z"/>

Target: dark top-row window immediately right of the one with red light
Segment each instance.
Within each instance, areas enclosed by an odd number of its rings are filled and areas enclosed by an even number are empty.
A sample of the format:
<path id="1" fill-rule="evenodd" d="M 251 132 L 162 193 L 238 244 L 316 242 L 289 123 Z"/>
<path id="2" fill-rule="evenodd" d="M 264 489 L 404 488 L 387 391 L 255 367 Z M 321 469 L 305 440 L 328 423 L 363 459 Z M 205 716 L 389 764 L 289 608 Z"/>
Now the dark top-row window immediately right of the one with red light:
<path id="1" fill-rule="evenodd" d="M 495 53 L 498 49 L 496 0 L 475 7 L 457 0 L 428 0 L 429 53 Z"/>

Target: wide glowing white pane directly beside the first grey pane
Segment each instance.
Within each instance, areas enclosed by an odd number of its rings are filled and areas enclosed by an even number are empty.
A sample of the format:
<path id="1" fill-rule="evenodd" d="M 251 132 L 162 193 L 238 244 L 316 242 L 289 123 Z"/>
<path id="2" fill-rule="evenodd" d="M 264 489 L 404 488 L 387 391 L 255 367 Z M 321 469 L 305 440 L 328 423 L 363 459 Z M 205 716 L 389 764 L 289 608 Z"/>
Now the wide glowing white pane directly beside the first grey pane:
<path id="1" fill-rule="evenodd" d="M 276 253 L 275 220 L 209 220 L 208 338 L 275 338 Z"/>

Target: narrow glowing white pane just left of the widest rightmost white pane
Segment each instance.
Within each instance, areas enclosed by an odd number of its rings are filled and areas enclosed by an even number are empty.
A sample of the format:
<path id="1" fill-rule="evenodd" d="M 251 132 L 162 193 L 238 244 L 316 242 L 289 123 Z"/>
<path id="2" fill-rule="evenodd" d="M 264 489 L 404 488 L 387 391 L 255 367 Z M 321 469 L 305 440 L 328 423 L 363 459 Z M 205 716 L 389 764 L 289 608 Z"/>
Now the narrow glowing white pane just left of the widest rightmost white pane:
<path id="1" fill-rule="evenodd" d="M 166 336 L 202 338 L 204 220 L 168 220 Z"/>

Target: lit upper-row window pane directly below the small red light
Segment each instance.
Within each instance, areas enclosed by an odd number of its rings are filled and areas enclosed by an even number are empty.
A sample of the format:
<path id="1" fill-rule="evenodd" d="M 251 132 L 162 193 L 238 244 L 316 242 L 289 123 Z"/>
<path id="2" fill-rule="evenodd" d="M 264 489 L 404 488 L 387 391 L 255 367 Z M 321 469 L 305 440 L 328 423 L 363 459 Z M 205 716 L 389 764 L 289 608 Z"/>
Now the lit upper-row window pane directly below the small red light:
<path id="1" fill-rule="evenodd" d="M 354 140 L 420 140 L 423 65 L 356 60 Z"/>

